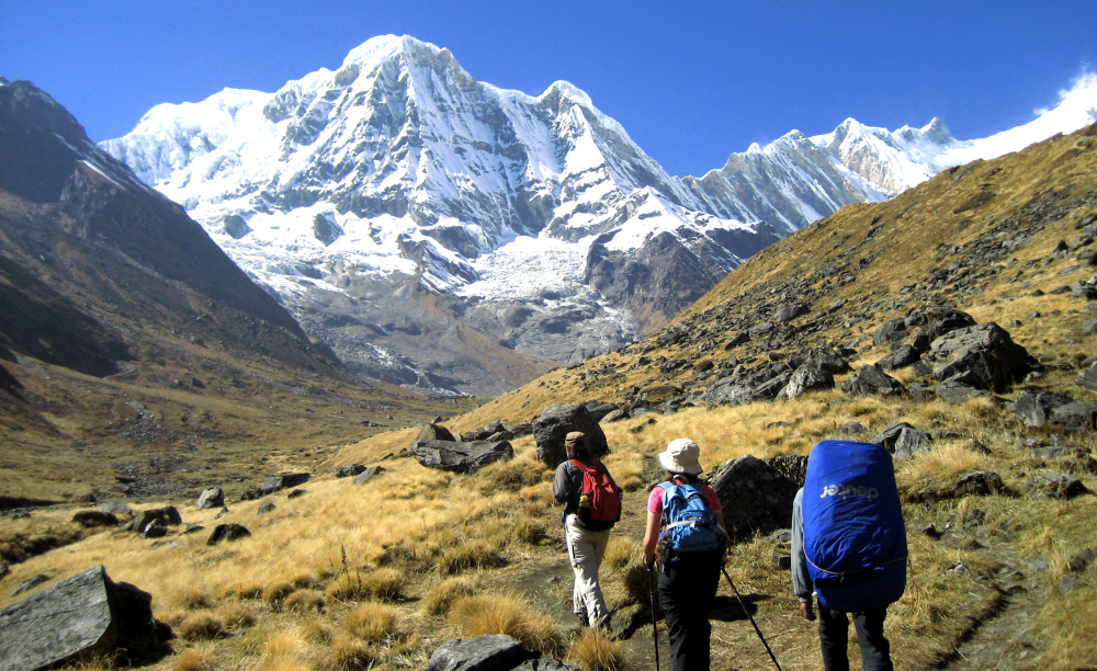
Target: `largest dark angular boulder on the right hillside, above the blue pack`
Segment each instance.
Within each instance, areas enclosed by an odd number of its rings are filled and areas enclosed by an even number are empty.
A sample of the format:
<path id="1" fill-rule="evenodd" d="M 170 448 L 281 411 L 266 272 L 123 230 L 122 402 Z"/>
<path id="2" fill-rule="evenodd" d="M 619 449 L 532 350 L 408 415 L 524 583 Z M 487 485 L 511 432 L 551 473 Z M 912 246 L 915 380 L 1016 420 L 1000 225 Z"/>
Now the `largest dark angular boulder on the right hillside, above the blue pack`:
<path id="1" fill-rule="evenodd" d="M 1005 391 L 1030 369 L 1029 354 L 993 321 L 955 329 L 934 340 L 923 363 L 937 379 Z"/>

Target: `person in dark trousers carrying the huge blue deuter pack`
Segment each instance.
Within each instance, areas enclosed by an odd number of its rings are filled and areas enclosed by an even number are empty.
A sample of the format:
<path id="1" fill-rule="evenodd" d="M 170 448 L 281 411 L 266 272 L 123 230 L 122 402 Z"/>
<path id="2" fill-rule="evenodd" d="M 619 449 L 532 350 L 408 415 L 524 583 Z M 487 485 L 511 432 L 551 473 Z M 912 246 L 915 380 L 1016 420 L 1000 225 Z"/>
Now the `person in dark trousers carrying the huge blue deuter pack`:
<path id="1" fill-rule="evenodd" d="M 848 671 L 849 617 L 864 671 L 891 671 L 887 606 L 906 589 L 906 525 L 887 450 L 823 441 L 792 508 L 792 587 L 800 612 L 815 619 L 827 671 Z"/>

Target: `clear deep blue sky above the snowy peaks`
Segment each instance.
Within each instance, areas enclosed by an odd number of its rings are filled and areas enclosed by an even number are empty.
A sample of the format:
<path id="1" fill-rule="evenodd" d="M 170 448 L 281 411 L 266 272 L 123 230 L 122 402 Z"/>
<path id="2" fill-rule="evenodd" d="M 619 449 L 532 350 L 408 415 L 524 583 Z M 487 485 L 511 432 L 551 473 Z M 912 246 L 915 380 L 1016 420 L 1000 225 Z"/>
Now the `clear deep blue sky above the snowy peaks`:
<path id="1" fill-rule="evenodd" d="M 275 91 L 389 33 L 498 87 L 570 81 L 680 175 L 849 116 L 893 129 L 940 116 L 985 137 L 1097 67 L 1095 0 L 0 0 L 0 76 L 33 81 L 99 141 L 158 103 Z"/>

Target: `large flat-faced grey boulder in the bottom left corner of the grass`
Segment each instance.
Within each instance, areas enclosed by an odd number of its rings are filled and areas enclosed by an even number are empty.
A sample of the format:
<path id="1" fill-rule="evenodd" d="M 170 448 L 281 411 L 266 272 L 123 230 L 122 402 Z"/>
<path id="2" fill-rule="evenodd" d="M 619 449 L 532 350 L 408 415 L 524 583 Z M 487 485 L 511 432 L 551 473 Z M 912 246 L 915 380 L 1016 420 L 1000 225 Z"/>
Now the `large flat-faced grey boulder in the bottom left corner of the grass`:
<path id="1" fill-rule="evenodd" d="M 167 627 L 152 598 L 114 582 L 102 565 L 0 611 L 0 669 L 37 671 L 124 648 L 131 660 L 155 650 Z"/>

